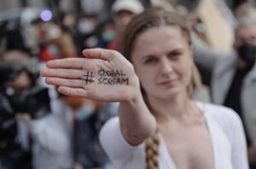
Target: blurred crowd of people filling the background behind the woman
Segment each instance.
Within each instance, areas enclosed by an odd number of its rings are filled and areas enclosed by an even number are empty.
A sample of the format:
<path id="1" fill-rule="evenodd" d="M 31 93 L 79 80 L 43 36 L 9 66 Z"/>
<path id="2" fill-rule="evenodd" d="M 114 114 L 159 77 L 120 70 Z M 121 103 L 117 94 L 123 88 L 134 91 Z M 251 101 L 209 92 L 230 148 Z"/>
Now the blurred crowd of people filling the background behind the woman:
<path id="1" fill-rule="evenodd" d="M 49 6 L 0 20 L 0 169 L 112 168 L 98 133 L 117 115 L 118 103 L 61 95 L 39 72 L 51 59 L 83 57 L 84 48 L 122 52 L 125 25 L 151 6 L 187 21 L 204 83 L 194 98 L 236 110 L 247 133 L 248 160 L 256 168 L 255 1 L 82 2 L 79 13 Z"/>

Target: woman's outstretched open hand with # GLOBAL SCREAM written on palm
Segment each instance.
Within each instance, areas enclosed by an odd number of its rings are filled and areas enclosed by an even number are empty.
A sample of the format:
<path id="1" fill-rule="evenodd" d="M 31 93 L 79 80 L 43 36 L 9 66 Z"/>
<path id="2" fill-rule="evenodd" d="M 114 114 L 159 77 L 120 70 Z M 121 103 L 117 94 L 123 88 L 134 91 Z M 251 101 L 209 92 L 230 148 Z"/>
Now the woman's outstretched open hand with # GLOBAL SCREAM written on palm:
<path id="1" fill-rule="evenodd" d="M 139 91 L 134 68 L 113 50 L 85 49 L 84 58 L 55 59 L 41 71 L 58 92 L 97 101 L 133 99 Z"/>

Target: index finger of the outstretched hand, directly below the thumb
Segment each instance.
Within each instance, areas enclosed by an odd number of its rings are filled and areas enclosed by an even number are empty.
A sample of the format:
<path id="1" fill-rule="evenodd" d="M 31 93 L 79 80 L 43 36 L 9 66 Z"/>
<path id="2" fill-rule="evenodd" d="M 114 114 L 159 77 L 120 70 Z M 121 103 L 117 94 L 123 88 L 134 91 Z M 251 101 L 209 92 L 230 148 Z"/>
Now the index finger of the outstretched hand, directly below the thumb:
<path id="1" fill-rule="evenodd" d="M 49 68 L 82 69 L 84 58 L 54 59 L 47 62 Z"/>

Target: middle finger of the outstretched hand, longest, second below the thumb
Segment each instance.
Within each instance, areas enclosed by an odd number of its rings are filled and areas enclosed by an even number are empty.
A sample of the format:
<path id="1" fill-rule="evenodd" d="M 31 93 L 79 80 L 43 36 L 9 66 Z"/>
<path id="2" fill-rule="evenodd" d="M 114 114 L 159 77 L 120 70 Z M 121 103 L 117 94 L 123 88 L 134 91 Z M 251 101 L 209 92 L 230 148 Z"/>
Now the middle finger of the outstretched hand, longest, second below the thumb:
<path id="1" fill-rule="evenodd" d="M 83 71 L 71 69 L 45 68 L 44 70 L 41 70 L 41 75 L 47 77 L 65 77 L 67 79 L 81 79 L 81 77 L 83 76 Z"/>

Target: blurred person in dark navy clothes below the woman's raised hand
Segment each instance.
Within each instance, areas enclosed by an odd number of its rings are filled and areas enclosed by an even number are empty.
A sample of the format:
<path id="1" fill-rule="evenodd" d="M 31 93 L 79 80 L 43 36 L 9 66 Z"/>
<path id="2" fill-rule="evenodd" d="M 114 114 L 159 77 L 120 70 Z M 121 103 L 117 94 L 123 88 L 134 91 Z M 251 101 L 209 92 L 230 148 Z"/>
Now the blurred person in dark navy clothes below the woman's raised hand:
<path id="1" fill-rule="evenodd" d="M 68 96 L 70 98 L 70 96 Z M 73 101 L 71 101 L 71 99 Z M 72 97 L 69 104 L 78 103 L 80 98 Z M 84 106 L 75 115 L 73 146 L 74 165 L 77 168 L 111 169 L 108 156 L 102 149 L 98 134 L 108 119 L 117 115 L 117 103 L 100 103 L 84 99 Z"/>

